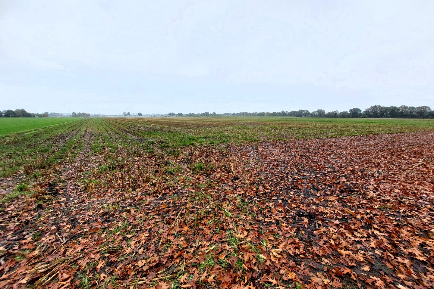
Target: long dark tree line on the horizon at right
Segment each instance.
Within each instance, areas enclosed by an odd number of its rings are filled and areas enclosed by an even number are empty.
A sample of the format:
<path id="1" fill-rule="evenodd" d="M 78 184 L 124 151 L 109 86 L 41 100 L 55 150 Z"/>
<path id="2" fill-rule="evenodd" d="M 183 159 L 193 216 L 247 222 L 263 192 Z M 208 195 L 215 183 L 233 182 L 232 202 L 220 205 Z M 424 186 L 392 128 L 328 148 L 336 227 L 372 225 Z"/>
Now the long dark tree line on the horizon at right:
<path id="1" fill-rule="evenodd" d="M 189 113 L 189 114 L 174 114 L 169 113 L 168 116 L 174 117 L 178 115 L 182 116 L 237 116 L 237 117 L 374 117 L 374 118 L 434 118 L 434 110 L 431 110 L 427 106 L 419 107 L 408 107 L 406 105 L 401 105 L 400 107 L 391 106 L 385 107 L 381 105 L 374 105 L 362 111 L 358 107 L 353 107 L 349 111 L 329 111 L 325 112 L 323 109 L 318 109 L 310 112 L 309 110 L 293 110 L 293 111 L 280 111 L 280 112 L 239 112 L 239 113 L 226 113 L 226 114 L 216 114 L 215 112 L 209 113 L 205 111 L 204 113 Z"/>

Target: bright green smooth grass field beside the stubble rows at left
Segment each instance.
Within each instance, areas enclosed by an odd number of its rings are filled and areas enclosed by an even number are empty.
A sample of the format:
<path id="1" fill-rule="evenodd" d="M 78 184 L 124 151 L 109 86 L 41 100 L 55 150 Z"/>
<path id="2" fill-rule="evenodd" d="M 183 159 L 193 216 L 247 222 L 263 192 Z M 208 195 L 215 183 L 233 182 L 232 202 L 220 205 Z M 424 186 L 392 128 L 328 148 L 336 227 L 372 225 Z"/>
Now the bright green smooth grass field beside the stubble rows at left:
<path id="1" fill-rule="evenodd" d="M 1 117 L 0 136 L 77 120 L 71 117 Z"/>

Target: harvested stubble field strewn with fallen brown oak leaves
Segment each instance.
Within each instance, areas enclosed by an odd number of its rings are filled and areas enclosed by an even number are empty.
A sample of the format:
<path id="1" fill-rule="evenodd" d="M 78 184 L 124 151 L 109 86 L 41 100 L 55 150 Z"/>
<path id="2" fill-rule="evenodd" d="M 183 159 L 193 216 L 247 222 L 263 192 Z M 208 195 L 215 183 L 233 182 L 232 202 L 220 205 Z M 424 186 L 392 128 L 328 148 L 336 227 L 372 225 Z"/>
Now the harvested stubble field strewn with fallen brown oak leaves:
<path id="1" fill-rule="evenodd" d="M 0 136 L 0 288 L 434 287 L 434 120 L 20 130 Z"/>

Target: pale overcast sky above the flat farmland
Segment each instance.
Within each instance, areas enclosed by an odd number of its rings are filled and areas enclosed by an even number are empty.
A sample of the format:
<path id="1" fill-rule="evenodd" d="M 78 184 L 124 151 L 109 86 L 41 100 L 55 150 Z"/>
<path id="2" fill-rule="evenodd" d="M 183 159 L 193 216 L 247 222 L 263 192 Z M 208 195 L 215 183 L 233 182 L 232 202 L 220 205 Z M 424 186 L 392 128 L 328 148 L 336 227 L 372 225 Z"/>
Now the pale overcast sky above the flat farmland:
<path id="1" fill-rule="evenodd" d="M 434 1 L 0 0 L 0 110 L 434 108 Z"/>

